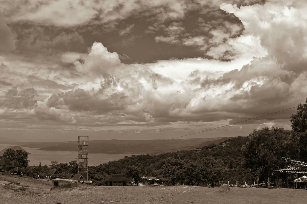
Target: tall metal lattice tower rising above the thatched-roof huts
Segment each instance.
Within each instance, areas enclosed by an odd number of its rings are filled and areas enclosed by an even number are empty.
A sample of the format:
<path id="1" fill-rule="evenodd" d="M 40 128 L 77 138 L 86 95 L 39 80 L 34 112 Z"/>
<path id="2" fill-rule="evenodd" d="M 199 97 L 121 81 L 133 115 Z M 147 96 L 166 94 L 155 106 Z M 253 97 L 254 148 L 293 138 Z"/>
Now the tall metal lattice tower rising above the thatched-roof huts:
<path id="1" fill-rule="evenodd" d="M 88 181 L 88 136 L 78 137 L 78 174 Z"/>

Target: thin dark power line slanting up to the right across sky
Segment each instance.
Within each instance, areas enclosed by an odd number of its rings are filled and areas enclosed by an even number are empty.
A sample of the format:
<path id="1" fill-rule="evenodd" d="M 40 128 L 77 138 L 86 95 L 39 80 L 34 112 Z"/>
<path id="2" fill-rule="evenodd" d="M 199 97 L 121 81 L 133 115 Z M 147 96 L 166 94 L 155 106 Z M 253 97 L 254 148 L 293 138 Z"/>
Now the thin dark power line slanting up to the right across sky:
<path id="1" fill-rule="evenodd" d="M 164 140 L 155 141 L 155 142 L 148 142 L 148 143 L 139 144 L 139 145 L 132 145 L 132 146 L 126 146 L 126 147 L 112 148 L 112 149 L 123 149 L 123 148 L 129 148 L 129 147 L 137 147 L 137 146 L 149 145 L 149 144 L 153 144 L 153 143 L 157 143 L 157 142 L 164 142 L 164 141 L 168 141 L 168 140 L 172 140 L 172 139 L 182 138 L 182 137 L 186 137 L 186 136 L 193 135 L 193 134 L 198 134 L 198 133 L 202 133 L 202 132 L 206 132 L 206 131 L 210 131 L 210 130 L 215 130 L 215 129 L 218 129 L 218 128 L 222 128 L 222 127 L 226 127 L 226 126 L 230 126 L 230 125 L 234 125 L 234 124 L 238 124 L 238 123 L 243 123 L 245 121 L 261 118 L 261 117 L 264 117 L 264 116 L 267 116 L 267 115 L 273 115 L 275 113 L 279 113 L 279 112 L 282 112 L 282 111 L 287 111 L 287 110 L 290 110 L 290 109 L 293 109 L 293 108 L 297 108 L 297 107 L 298 106 L 295 106 L 295 107 L 292 107 L 292 108 L 287 108 L 287 109 L 284 109 L 284 110 L 281 110 L 281 111 L 276 111 L 276 112 L 269 113 L 269 114 L 266 114 L 266 115 L 260 115 L 260 116 L 255 117 L 255 118 L 250 118 L 250 119 L 242 120 L 242 121 L 239 121 L 239 122 L 236 122 L 236 123 L 231 123 L 231 124 L 223 125 L 223 126 L 220 126 L 220 127 L 215 127 L 215 128 L 211 128 L 211 129 L 207 129 L 207 130 L 202 130 L 202 131 L 194 132 L 194 133 L 191 133 L 191 134 L 185 134 L 185 135 L 174 137 L 174 138 L 164 139 Z M 111 149 L 104 149 L 104 150 L 111 150 Z"/>

